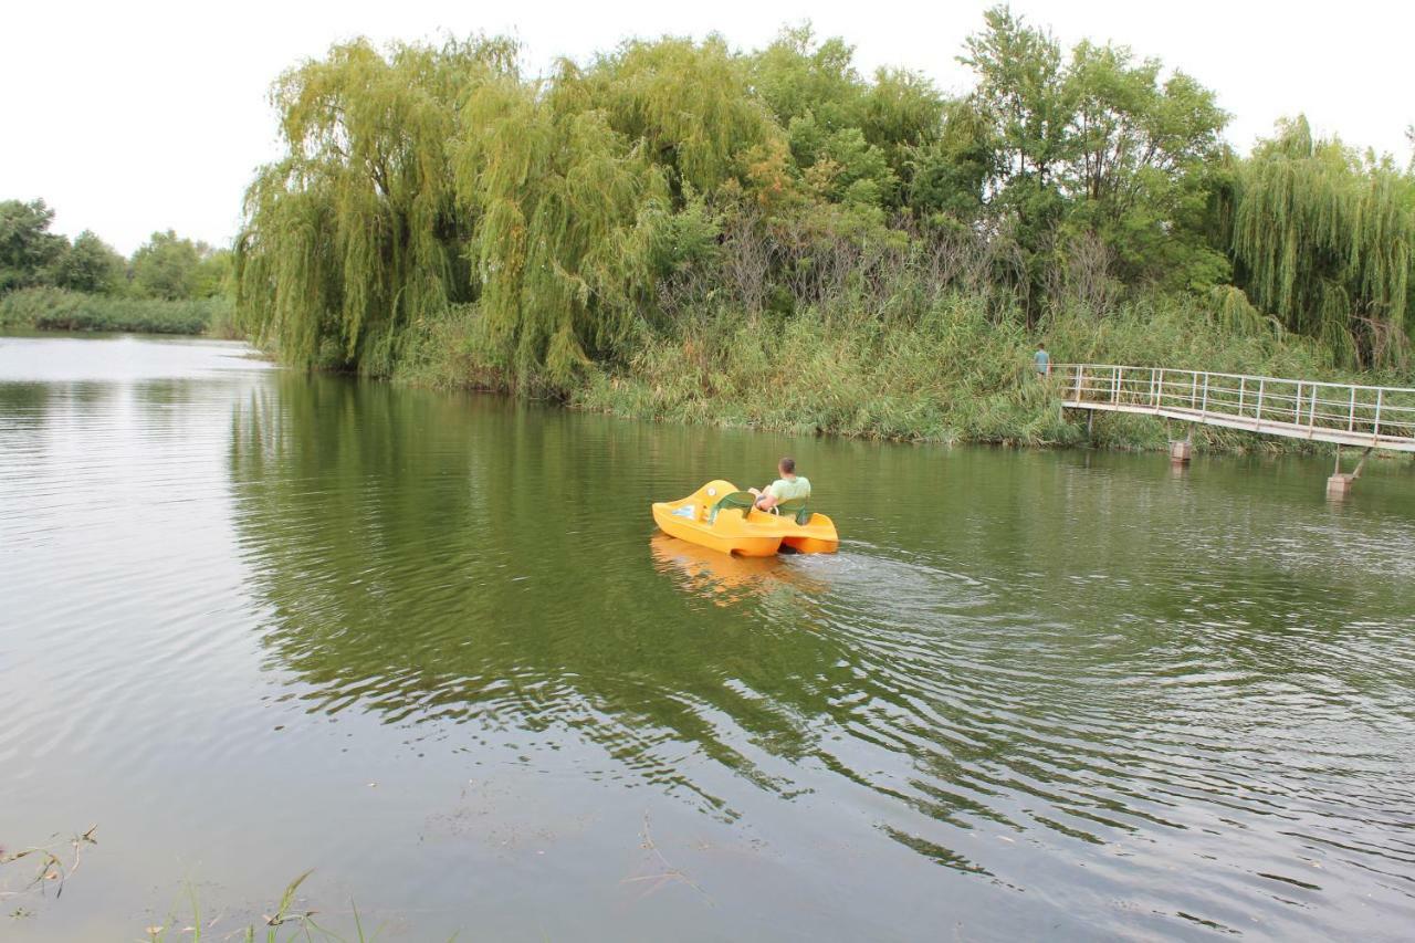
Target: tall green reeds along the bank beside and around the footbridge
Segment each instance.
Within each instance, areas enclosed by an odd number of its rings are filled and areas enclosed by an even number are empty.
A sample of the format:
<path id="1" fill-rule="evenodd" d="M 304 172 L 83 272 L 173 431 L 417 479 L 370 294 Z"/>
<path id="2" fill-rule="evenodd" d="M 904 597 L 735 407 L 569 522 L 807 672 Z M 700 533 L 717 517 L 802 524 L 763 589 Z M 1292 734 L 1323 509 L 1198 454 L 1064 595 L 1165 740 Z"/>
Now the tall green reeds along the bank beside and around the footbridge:
<path id="1" fill-rule="evenodd" d="M 1044 340 L 1053 362 L 1165 365 L 1269 377 L 1350 379 L 1320 345 L 1272 323 L 1225 320 L 1200 299 L 1150 297 L 1097 314 L 1081 306 L 1033 330 L 996 297 L 966 292 L 841 293 L 792 314 L 696 304 L 637 344 L 618 365 L 589 365 L 562 391 L 580 409 L 624 418 L 944 443 L 1071 446 L 1084 419 L 1065 413 L 1036 377 Z M 478 355 L 477 313 L 460 309 L 405 345 L 395 378 L 505 389 Z M 1363 375 L 1363 382 L 1401 378 Z M 1184 435 L 1150 416 L 1101 415 L 1094 445 L 1163 449 Z M 1194 426 L 1210 452 L 1324 449 Z"/>

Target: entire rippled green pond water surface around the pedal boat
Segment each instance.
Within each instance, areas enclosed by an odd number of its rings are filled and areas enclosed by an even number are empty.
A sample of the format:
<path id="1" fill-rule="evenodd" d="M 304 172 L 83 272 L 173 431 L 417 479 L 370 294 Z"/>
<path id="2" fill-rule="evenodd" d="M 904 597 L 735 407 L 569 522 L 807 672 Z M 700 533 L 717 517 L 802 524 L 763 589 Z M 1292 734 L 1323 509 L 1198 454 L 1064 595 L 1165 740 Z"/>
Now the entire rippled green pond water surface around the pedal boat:
<path id="1" fill-rule="evenodd" d="M 0 848 L 98 825 L 62 896 L 0 865 L 3 939 L 219 937 L 308 868 L 381 939 L 1415 926 L 1409 460 L 1333 504 L 243 353 L 0 338 Z M 655 534 L 781 453 L 838 555 Z"/>

